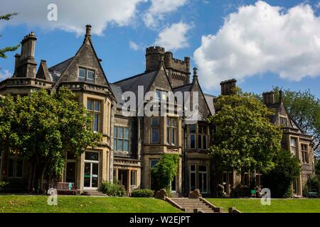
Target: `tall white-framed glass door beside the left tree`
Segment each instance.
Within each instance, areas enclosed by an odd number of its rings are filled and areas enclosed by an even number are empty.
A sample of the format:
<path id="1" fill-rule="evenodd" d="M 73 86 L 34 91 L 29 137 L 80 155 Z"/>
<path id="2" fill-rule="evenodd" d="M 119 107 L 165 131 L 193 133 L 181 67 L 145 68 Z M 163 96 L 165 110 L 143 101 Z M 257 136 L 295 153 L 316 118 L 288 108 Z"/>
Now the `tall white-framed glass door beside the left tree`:
<path id="1" fill-rule="evenodd" d="M 99 153 L 85 153 L 84 188 L 98 189 L 99 182 Z"/>

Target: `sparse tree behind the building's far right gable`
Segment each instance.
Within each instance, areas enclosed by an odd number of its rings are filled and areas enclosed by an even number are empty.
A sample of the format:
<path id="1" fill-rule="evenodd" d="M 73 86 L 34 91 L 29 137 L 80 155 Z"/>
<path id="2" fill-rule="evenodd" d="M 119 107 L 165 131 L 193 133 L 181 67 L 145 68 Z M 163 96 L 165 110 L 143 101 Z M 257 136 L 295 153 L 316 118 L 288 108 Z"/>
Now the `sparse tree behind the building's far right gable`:
<path id="1" fill-rule="evenodd" d="M 279 100 L 279 87 L 274 87 L 276 100 Z M 320 157 L 320 99 L 310 90 L 294 92 L 289 89 L 282 92 L 282 101 L 303 131 L 314 137 L 314 151 Z"/>

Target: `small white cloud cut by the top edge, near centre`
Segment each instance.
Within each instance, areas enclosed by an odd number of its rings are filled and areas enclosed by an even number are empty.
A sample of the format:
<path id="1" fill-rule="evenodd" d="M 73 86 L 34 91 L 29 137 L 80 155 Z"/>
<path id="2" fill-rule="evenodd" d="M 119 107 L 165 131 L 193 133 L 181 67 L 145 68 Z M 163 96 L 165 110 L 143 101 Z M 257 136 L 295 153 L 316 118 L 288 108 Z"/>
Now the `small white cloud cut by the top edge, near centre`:
<path id="1" fill-rule="evenodd" d="M 151 0 L 151 6 L 144 16 L 144 23 L 148 28 L 156 28 L 166 13 L 176 11 L 188 0 Z"/>

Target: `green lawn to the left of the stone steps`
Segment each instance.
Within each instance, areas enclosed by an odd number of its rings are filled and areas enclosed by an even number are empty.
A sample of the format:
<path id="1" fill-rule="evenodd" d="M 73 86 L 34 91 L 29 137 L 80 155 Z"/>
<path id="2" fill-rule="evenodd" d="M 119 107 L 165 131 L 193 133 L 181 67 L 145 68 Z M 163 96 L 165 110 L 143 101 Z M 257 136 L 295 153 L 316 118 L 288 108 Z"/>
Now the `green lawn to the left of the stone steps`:
<path id="1" fill-rule="evenodd" d="M 0 195 L 0 213 L 178 213 L 166 201 L 152 198 L 58 196 L 58 206 L 47 204 L 48 196 Z"/>

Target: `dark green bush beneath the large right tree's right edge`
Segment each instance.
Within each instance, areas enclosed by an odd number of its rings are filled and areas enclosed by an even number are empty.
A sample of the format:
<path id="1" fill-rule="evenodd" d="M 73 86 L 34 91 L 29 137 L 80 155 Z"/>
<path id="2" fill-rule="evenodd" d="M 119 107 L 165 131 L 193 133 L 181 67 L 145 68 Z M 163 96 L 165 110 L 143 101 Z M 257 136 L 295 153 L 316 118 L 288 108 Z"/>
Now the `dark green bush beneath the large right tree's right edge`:
<path id="1" fill-rule="evenodd" d="M 292 182 L 299 177 L 301 163 L 288 150 L 281 150 L 274 157 L 274 169 L 263 175 L 264 187 L 270 189 L 272 197 L 292 196 Z"/>

